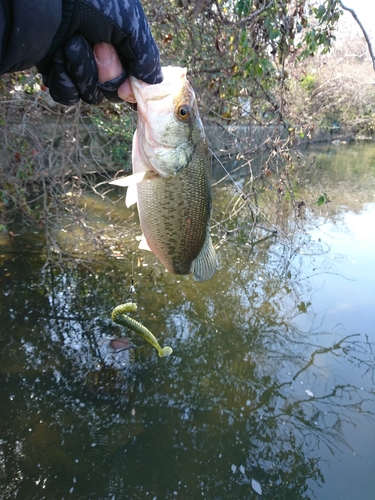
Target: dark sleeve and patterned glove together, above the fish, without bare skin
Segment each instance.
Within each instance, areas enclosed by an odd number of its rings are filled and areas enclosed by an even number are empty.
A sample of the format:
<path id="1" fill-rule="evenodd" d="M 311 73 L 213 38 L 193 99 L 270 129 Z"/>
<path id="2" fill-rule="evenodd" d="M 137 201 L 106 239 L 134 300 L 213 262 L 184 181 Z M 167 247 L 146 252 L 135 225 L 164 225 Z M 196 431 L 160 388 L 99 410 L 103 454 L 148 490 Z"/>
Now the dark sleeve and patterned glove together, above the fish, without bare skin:
<path id="1" fill-rule="evenodd" d="M 92 46 L 114 45 L 120 78 L 98 84 Z M 159 49 L 140 0 L 0 0 L 0 74 L 37 66 L 57 102 L 97 104 L 133 75 L 163 80 Z"/>

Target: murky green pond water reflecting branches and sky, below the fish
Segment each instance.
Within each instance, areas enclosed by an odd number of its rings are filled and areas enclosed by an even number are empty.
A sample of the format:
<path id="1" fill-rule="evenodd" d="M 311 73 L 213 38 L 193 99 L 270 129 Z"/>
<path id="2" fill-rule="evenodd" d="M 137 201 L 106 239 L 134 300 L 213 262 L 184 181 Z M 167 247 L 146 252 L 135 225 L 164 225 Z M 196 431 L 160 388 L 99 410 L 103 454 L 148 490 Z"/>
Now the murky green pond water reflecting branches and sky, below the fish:
<path id="1" fill-rule="evenodd" d="M 314 155 L 304 189 L 331 202 L 304 231 L 229 238 L 207 283 L 135 262 L 135 317 L 169 358 L 107 348 L 131 262 L 3 247 L 1 498 L 373 497 L 375 147 Z"/>

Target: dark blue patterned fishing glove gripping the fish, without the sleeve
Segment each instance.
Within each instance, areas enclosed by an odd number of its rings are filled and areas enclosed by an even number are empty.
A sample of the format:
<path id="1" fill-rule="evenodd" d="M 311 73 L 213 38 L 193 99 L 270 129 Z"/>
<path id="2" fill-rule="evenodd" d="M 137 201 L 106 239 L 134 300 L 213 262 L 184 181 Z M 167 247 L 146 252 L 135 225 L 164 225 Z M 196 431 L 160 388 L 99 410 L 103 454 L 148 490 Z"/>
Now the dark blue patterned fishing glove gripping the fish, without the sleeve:
<path id="1" fill-rule="evenodd" d="M 106 96 L 121 102 L 117 90 L 129 75 L 146 83 L 162 81 L 159 51 L 139 0 L 63 2 L 73 7 L 69 21 L 55 35 L 49 55 L 37 64 L 55 101 L 97 104 Z M 101 42 L 115 46 L 123 67 L 120 76 L 105 83 L 98 83 L 92 49 Z"/>

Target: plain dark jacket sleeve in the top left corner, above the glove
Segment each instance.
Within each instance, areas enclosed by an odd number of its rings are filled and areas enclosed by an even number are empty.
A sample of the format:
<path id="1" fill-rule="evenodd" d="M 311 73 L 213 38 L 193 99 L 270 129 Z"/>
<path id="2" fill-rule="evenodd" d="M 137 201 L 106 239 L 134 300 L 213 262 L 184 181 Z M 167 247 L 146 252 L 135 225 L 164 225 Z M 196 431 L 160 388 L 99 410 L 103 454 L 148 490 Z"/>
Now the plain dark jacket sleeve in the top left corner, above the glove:
<path id="1" fill-rule="evenodd" d="M 0 74 L 43 59 L 64 20 L 70 22 L 69 10 L 62 0 L 0 0 Z"/>

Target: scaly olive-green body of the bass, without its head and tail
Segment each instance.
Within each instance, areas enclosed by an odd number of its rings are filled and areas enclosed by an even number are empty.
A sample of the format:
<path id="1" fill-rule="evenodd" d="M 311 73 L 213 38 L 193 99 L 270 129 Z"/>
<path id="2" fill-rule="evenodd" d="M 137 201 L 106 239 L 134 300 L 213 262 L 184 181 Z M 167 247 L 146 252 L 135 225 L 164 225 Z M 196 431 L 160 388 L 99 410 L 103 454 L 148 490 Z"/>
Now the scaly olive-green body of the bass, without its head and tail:
<path id="1" fill-rule="evenodd" d="M 204 245 L 210 218 L 210 180 L 204 162 L 195 158 L 175 177 L 137 184 L 143 234 L 166 269 L 176 274 L 190 272 Z"/>

